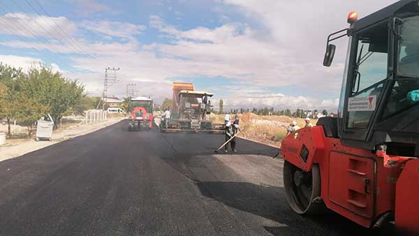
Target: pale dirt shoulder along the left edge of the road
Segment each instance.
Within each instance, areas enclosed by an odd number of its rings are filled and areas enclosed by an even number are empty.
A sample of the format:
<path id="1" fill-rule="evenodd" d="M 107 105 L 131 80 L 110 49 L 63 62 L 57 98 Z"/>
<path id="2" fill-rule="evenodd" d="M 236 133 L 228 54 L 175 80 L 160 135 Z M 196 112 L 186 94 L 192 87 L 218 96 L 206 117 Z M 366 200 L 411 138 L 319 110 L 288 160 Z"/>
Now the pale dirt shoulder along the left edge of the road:
<path id="1" fill-rule="evenodd" d="M 22 156 L 29 152 L 34 152 L 43 147 L 54 145 L 58 142 L 75 138 L 80 135 L 85 135 L 97 131 L 101 128 L 105 128 L 112 124 L 115 124 L 121 121 L 124 118 L 115 117 L 108 119 L 107 121 L 101 121 L 94 124 L 82 124 L 67 126 L 59 128 L 57 131 L 54 131 L 52 134 L 52 141 L 39 141 L 36 142 L 34 139 L 19 139 L 19 140 L 7 140 L 6 145 L 0 146 L 0 161 L 5 161 L 10 158 L 15 158 L 17 156 Z"/>

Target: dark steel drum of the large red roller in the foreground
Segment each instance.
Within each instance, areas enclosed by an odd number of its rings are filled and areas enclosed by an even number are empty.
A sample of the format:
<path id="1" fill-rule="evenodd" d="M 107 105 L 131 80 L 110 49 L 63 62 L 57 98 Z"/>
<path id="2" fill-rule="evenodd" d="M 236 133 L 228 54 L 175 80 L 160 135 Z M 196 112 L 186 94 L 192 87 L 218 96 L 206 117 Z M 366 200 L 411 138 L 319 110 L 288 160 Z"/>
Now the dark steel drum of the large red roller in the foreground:
<path id="1" fill-rule="evenodd" d="M 284 161 L 284 188 L 286 200 L 297 214 L 309 215 L 325 212 L 321 191 L 320 170 L 313 165 L 309 172 Z"/>

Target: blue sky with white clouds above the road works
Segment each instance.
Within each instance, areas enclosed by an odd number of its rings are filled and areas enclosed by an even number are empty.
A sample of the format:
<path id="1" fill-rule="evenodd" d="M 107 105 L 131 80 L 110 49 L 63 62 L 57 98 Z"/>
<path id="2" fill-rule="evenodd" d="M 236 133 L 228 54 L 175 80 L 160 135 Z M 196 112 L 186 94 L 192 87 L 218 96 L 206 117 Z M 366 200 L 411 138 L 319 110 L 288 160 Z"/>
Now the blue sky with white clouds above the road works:
<path id="1" fill-rule="evenodd" d="M 3 0 L 0 61 L 45 64 L 101 96 L 105 68 L 156 103 L 193 82 L 224 107 L 337 110 L 347 38 L 322 66 L 328 34 L 394 0 Z"/>

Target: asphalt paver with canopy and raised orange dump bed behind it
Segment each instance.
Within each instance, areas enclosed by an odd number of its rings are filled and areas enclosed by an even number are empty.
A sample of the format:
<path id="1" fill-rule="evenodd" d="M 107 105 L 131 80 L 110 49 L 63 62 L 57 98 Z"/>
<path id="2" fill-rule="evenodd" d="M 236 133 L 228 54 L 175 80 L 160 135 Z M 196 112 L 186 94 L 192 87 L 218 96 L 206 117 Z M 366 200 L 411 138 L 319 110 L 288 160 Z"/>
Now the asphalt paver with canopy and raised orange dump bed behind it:
<path id="1" fill-rule="evenodd" d="M 168 126 L 161 121 L 161 131 L 223 131 L 222 124 L 212 124 L 207 115 L 212 110 L 210 98 L 214 94 L 207 91 L 196 91 L 193 84 L 185 82 L 173 83 L 173 103 Z"/>

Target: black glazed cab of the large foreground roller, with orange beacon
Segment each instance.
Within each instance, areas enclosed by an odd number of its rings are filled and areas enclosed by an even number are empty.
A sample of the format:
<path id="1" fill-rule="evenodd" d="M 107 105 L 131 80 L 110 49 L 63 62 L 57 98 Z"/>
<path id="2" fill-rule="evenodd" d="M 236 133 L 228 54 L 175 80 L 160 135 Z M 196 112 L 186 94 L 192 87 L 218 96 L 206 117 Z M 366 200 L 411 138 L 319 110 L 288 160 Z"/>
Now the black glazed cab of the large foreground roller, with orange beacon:
<path id="1" fill-rule="evenodd" d="M 375 149 L 404 143 L 410 156 L 419 156 L 418 25 L 418 1 L 404 0 L 344 30 L 348 54 L 337 119 L 344 144 Z M 330 41 L 328 49 L 335 47 Z M 325 66 L 332 51 L 326 52 Z"/>

